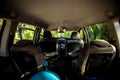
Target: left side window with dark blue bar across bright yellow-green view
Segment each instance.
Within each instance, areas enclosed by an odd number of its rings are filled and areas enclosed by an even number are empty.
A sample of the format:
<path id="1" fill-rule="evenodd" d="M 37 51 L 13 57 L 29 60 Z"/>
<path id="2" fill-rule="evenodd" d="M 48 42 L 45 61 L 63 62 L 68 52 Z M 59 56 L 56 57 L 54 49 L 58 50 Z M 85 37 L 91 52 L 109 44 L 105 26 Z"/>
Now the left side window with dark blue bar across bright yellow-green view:
<path id="1" fill-rule="evenodd" d="M 19 40 L 33 40 L 34 30 L 35 26 L 33 25 L 19 23 L 14 37 L 14 43 Z"/>

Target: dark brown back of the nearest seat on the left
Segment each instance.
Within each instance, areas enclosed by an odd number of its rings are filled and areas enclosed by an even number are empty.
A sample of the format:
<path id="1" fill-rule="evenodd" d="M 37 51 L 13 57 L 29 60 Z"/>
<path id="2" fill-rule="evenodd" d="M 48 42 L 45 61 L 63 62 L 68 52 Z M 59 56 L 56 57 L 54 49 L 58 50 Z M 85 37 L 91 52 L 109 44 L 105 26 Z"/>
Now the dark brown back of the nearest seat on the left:
<path id="1" fill-rule="evenodd" d="M 45 60 L 40 47 L 33 44 L 13 45 L 10 51 L 13 60 L 23 73 L 37 69 Z"/>

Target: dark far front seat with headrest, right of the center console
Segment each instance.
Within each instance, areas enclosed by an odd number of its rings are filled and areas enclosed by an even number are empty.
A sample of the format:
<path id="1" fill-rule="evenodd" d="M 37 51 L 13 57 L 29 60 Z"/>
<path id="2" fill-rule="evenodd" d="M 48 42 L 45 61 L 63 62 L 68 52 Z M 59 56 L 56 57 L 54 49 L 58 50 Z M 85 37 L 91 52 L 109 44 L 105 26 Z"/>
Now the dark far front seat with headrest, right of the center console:
<path id="1" fill-rule="evenodd" d="M 67 53 L 71 56 L 78 56 L 83 47 L 84 41 L 80 39 L 80 34 L 72 32 L 71 39 L 67 40 Z"/>

